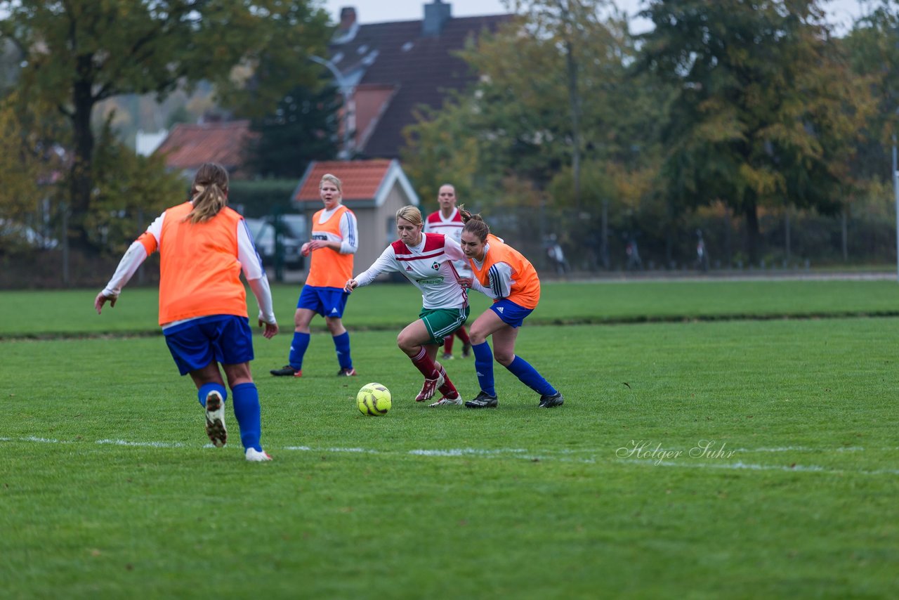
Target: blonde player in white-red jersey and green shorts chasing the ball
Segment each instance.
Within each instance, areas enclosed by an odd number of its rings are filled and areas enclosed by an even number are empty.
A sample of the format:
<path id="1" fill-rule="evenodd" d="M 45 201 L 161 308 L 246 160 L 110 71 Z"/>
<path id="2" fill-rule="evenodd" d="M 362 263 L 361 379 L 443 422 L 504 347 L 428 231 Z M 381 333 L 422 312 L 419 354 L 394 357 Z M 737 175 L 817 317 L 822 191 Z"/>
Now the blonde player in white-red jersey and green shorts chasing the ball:
<path id="1" fill-rule="evenodd" d="M 352 292 L 375 281 L 381 273 L 398 272 L 422 291 L 419 318 L 396 336 L 396 345 L 424 375 L 422 391 L 415 401 L 430 399 L 434 390 L 440 390 L 442 398 L 430 406 L 462 404 L 449 375 L 435 359 L 443 338 L 468 318 L 467 291 L 458 284 L 453 266 L 453 261 L 464 258 L 465 253 L 452 237 L 424 233 L 422 213 L 414 206 L 396 211 L 396 232 L 399 239 L 387 246 L 365 272 L 347 281 L 344 290 Z"/>

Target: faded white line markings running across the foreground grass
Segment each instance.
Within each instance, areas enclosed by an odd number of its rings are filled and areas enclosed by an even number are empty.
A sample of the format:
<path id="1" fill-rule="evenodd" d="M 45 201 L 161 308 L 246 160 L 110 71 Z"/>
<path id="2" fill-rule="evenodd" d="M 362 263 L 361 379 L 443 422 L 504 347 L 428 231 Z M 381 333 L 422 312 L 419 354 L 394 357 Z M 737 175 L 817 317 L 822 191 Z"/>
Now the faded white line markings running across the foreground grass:
<path id="1" fill-rule="evenodd" d="M 34 443 L 71 443 L 66 440 L 55 440 L 45 437 L 36 437 L 36 436 L 28 436 L 28 437 L 20 437 L 20 438 L 12 438 L 12 437 L 0 437 L 0 442 L 34 442 Z M 129 442 L 127 440 L 97 440 L 95 443 L 98 444 L 112 444 L 118 446 L 130 446 L 130 447 L 149 447 L 149 448 L 182 448 L 184 445 L 178 442 Z M 204 448 L 213 447 L 211 443 L 207 443 L 203 446 Z M 281 450 L 294 450 L 299 452 L 336 452 L 336 453 L 368 453 L 368 454 L 389 454 L 392 452 L 381 452 L 378 450 L 367 449 L 367 448 L 312 448 L 311 446 L 284 446 Z M 731 452 L 863 452 L 865 449 L 861 447 L 840 447 L 840 448 L 805 448 L 805 447 L 785 447 L 785 448 L 741 448 L 738 450 L 734 450 Z M 899 448 L 881 448 L 883 451 L 894 451 L 899 450 Z M 568 459 L 568 458 L 555 458 L 551 456 L 546 456 L 545 454 L 574 454 L 574 453 L 592 453 L 599 454 L 599 451 L 593 450 L 545 450 L 542 451 L 543 454 L 532 454 L 527 450 L 523 450 L 521 448 L 501 448 L 496 450 L 483 450 L 478 448 L 451 448 L 446 450 L 424 450 L 424 449 L 416 449 L 409 450 L 405 452 L 406 454 L 413 456 L 426 456 L 426 457 L 458 457 L 458 456 L 480 456 L 485 458 L 503 458 L 509 457 L 520 460 L 528 460 L 528 461 L 561 461 L 561 462 L 585 462 L 585 463 L 596 463 L 595 456 L 592 458 L 584 458 L 584 459 Z M 639 464 L 645 465 L 649 467 L 681 467 L 681 468 L 689 468 L 689 469 L 724 469 L 724 470 L 779 470 L 779 471 L 787 471 L 787 472 L 812 472 L 812 473 L 828 473 L 828 474 L 859 474 L 859 475 L 899 475 L 899 469 L 877 469 L 877 470 L 841 470 L 841 469 L 829 469 L 826 467 L 821 467 L 818 465 L 764 465 L 764 464 L 753 464 L 746 463 L 743 461 L 736 462 L 691 462 L 691 461 L 683 461 L 683 462 L 674 462 L 674 461 L 659 461 L 657 459 L 619 459 L 614 458 L 605 462 L 619 462 L 619 463 L 630 463 L 630 464 Z"/>

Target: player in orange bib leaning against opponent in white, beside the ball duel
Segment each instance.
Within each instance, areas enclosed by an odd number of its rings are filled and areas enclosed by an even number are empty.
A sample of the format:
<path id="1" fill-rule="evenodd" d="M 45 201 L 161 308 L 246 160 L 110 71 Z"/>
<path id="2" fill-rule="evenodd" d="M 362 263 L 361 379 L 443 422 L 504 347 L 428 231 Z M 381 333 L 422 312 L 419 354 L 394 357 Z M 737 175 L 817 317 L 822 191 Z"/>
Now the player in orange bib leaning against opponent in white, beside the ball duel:
<path id="1" fill-rule="evenodd" d="M 496 407 L 494 353 L 497 363 L 540 395 L 539 407 L 561 406 L 565 402 L 561 392 L 550 385 L 530 363 L 515 355 L 518 327 L 537 308 L 540 300 L 537 271 L 518 250 L 492 235 L 480 215 L 473 215 L 461 206 L 458 210 L 465 223 L 462 228 L 462 251 L 468 257 L 473 273 L 473 277 L 459 279 L 459 284 L 464 288 L 480 291 L 494 300 L 493 306 L 476 318 L 468 329 L 481 391 L 475 399 L 468 400 L 465 406 Z M 494 339 L 493 352 L 487 343 L 489 336 Z"/>

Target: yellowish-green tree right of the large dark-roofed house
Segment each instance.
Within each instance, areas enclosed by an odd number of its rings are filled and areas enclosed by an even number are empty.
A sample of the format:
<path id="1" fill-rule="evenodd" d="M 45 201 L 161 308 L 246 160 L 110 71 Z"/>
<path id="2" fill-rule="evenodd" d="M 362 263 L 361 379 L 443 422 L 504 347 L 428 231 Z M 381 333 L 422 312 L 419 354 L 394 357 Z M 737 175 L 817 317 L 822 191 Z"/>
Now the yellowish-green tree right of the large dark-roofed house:
<path id="1" fill-rule="evenodd" d="M 529 182 L 544 194 L 547 214 L 571 215 L 573 231 L 575 220 L 590 223 L 582 228 L 586 241 L 601 231 L 598 252 L 608 265 L 618 186 L 600 185 L 605 179 L 596 170 L 618 177 L 653 160 L 664 87 L 628 72 L 636 49 L 610 3 L 529 0 L 516 8 L 516 19 L 461 53 L 480 75 L 473 89 L 411 130 L 413 171 L 474 158 L 471 181 L 490 184 L 496 195 L 528 187 L 503 182 Z M 460 154 L 465 158 L 454 158 Z M 565 184 L 554 183 L 560 176 Z"/>

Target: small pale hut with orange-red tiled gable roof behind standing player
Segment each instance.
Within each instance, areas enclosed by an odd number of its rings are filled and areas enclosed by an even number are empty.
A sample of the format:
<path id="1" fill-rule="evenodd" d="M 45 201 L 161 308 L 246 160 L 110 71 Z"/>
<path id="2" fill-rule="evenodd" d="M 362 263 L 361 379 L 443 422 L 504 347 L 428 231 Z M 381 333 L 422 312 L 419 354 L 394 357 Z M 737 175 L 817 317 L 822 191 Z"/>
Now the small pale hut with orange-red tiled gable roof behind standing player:
<path id="1" fill-rule="evenodd" d="M 326 173 L 341 180 L 343 205 L 359 223 L 353 274 L 361 273 L 396 240 L 396 210 L 408 204 L 419 206 L 421 201 L 397 160 L 316 161 L 307 167 L 292 197 L 293 206 L 306 215 L 310 230 L 312 216 L 325 206 L 318 184 Z"/>

